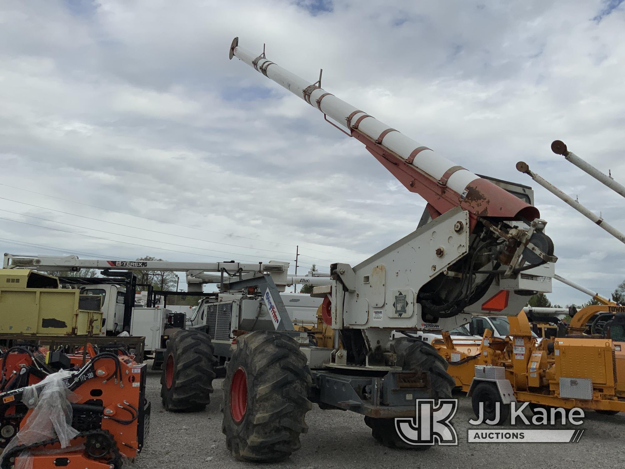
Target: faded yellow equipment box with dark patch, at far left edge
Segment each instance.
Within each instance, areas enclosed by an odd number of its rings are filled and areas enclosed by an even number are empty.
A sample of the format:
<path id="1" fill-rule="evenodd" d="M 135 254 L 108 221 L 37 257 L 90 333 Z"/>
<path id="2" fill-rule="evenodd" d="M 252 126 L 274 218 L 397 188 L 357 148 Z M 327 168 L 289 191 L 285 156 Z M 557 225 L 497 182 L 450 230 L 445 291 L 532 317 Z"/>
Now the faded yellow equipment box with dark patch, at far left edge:
<path id="1" fill-rule="evenodd" d="M 102 297 L 59 288 L 27 269 L 0 269 L 0 336 L 100 335 Z"/>

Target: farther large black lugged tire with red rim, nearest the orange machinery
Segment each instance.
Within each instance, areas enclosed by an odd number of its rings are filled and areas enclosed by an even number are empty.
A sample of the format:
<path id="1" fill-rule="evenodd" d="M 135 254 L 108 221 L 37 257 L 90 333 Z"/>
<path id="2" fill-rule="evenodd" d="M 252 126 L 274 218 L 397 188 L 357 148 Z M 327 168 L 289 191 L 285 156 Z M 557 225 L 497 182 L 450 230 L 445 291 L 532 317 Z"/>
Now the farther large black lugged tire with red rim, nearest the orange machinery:
<path id="1" fill-rule="evenodd" d="M 169 338 L 161 373 L 165 410 L 194 412 L 211 402 L 214 366 L 211 338 L 205 332 L 179 330 Z"/>

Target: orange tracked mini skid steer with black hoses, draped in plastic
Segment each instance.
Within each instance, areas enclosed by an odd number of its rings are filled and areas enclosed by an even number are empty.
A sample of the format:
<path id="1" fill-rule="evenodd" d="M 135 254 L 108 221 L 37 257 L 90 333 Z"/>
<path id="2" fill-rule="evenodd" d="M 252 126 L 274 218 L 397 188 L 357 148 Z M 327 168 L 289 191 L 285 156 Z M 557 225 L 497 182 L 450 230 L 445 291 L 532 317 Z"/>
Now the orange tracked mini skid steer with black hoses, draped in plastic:
<path id="1" fill-rule="evenodd" d="M 33 349 L 14 347 L 1 357 L 0 468 L 32 463 L 36 469 L 119 469 L 124 458 L 138 455 L 149 430 L 146 365 L 124 350 L 100 351 L 91 345 L 72 355 Z M 56 401 L 49 398 L 54 392 Z M 51 405 L 56 402 L 67 406 L 66 413 L 58 413 L 58 406 Z M 70 408 L 71 427 L 65 421 Z M 61 418 L 54 421 L 46 412 Z M 69 431 L 59 432 L 59 421 Z M 46 425 L 49 434 L 41 430 Z M 36 431 L 29 432 L 31 426 Z M 39 433 L 49 438 L 33 441 Z"/>

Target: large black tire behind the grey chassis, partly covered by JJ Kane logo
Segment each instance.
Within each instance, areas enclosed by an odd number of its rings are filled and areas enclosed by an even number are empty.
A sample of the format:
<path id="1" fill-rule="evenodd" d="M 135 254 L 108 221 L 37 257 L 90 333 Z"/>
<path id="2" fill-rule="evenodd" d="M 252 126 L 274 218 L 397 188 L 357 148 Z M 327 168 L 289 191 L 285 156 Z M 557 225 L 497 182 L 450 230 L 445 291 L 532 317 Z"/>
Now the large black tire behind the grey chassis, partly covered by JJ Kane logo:
<path id="1" fill-rule="evenodd" d="M 451 399 L 451 390 L 456 381 L 447 373 L 447 360 L 438 354 L 429 343 L 406 337 L 394 340 L 393 348 L 397 354 L 397 366 L 402 370 L 429 371 L 431 395 L 435 402 L 439 399 Z M 371 428 L 371 436 L 384 446 L 400 450 L 423 451 L 427 445 L 411 445 L 402 440 L 395 429 L 394 418 L 365 417 L 364 423 Z"/>

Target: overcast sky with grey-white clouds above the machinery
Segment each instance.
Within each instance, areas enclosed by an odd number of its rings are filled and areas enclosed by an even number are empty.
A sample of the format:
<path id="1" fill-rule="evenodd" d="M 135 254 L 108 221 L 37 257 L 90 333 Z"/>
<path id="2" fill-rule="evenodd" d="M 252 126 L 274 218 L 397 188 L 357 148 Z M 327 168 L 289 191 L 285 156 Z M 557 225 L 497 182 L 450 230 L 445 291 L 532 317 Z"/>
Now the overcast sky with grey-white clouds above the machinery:
<path id="1" fill-rule="evenodd" d="M 0 251 L 356 264 L 424 201 L 356 139 L 236 59 L 241 46 L 474 173 L 529 184 L 556 271 L 608 295 L 625 246 L 514 168 L 625 230 L 622 0 L 4 1 Z M 587 298 L 554 281 L 552 301 Z"/>

